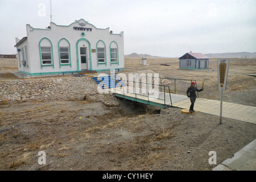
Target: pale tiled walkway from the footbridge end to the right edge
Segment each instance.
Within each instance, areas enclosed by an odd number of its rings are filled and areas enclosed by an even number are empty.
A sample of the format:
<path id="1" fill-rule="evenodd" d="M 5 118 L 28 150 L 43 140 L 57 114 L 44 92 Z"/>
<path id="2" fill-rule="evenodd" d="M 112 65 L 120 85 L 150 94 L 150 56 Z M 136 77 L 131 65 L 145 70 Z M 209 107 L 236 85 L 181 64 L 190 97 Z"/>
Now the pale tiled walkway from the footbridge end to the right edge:
<path id="1" fill-rule="evenodd" d="M 189 109 L 189 98 L 172 103 L 175 107 Z M 194 109 L 202 113 L 220 115 L 220 101 L 196 98 Z M 222 117 L 256 124 L 256 107 L 222 102 Z"/>

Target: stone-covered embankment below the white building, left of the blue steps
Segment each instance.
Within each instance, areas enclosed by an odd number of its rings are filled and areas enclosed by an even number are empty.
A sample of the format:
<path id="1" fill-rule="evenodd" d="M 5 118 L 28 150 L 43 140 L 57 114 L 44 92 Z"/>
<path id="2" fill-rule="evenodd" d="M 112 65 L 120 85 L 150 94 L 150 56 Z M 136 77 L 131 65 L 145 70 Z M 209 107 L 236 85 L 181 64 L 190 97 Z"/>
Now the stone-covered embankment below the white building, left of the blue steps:
<path id="1" fill-rule="evenodd" d="M 47 77 L 28 80 L 0 81 L 0 102 L 46 101 L 46 100 L 86 100 L 109 104 L 111 94 L 99 94 L 97 84 L 91 76 Z M 111 105 L 111 104 L 110 104 Z M 114 103 L 115 105 L 115 103 Z"/>

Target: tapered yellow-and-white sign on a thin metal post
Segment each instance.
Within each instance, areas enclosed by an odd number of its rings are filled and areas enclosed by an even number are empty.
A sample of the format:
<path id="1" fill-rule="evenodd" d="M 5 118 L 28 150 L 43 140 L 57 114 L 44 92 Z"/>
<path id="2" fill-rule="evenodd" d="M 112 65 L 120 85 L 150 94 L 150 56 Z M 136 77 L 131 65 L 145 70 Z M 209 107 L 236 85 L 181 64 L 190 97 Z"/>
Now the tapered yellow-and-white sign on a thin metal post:
<path id="1" fill-rule="evenodd" d="M 221 91 L 220 97 L 220 124 L 222 122 L 222 93 L 226 90 L 226 81 L 229 71 L 229 59 L 218 59 L 218 90 Z"/>

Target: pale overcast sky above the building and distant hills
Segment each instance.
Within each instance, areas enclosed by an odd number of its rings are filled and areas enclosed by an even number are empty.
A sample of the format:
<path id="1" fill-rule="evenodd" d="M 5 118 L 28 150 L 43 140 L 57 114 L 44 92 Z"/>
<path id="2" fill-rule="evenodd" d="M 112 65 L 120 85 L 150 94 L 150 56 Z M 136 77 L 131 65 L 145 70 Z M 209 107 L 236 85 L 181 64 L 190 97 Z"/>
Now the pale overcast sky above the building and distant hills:
<path id="1" fill-rule="evenodd" d="M 0 0 L 0 54 L 16 53 L 26 24 L 46 28 L 50 0 Z M 84 19 L 124 32 L 125 54 L 256 52 L 255 0 L 52 0 L 52 21 Z"/>

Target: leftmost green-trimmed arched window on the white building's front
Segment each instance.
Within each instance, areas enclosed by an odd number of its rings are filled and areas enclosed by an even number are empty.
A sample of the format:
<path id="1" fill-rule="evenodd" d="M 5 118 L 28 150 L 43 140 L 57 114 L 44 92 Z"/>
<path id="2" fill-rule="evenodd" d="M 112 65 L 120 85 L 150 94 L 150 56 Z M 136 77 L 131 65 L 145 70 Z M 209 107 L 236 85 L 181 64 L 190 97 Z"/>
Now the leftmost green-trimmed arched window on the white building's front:
<path id="1" fill-rule="evenodd" d="M 48 38 L 42 38 L 39 41 L 39 52 L 40 52 L 41 69 L 43 67 L 54 68 L 51 40 L 49 40 Z"/>

